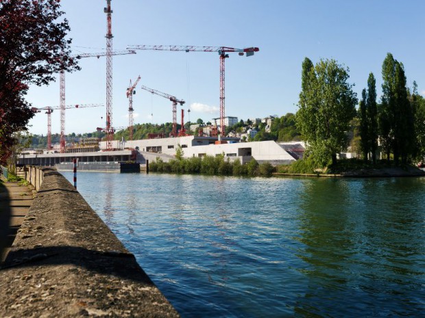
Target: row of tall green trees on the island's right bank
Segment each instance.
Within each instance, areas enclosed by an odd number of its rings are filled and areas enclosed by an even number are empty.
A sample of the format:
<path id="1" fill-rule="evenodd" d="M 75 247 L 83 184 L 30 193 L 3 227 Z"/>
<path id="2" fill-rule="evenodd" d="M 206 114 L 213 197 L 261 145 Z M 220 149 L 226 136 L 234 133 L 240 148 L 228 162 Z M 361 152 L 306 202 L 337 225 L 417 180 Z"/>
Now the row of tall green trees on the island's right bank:
<path id="1" fill-rule="evenodd" d="M 348 83 L 348 68 L 335 59 L 321 59 L 315 65 L 304 59 L 295 121 L 308 146 L 303 161 L 288 170 L 341 170 L 347 164 L 338 162 L 337 154 L 345 153 L 349 146 L 363 159 L 363 163 L 352 161 L 352 168 L 423 161 L 424 98 L 418 94 L 415 81 L 412 88 L 407 87 L 404 66 L 391 53 L 384 59 L 382 76 L 380 103 L 371 72 L 356 110 L 358 99 Z"/>

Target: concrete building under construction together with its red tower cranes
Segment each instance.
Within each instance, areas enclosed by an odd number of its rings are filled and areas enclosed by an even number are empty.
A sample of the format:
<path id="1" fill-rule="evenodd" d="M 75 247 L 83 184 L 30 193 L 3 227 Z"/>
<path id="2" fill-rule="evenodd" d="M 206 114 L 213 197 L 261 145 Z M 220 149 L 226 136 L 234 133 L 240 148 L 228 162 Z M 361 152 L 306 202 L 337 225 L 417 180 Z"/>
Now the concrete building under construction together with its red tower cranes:
<path id="1" fill-rule="evenodd" d="M 245 163 L 254 158 L 257 161 L 269 161 L 282 164 L 302 157 L 304 145 L 278 144 L 276 142 L 241 142 L 240 138 L 226 136 L 226 105 L 225 105 L 225 79 L 226 59 L 231 53 L 250 57 L 258 52 L 258 47 L 245 47 L 236 49 L 234 47 L 197 47 L 177 45 L 128 45 L 126 50 L 112 50 L 112 9 L 111 1 L 106 0 L 106 51 L 100 53 L 80 53 L 73 55 L 75 59 L 88 57 L 106 57 L 106 105 L 104 104 L 78 104 L 66 105 L 65 94 L 65 72 L 60 72 L 60 105 L 33 107 L 34 113 L 45 112 L 47 114 L 47 149 L 42 153 L 23 152 L 19 158 L 19 164 L 56 165 L 58 169 L 71 169 L 71 162 L 77 158 L 80 165 L 86 163 L 86 170 L 119 170 L 118 163 L 145 164 L 147 160 L 155 160 L 160 157 L 169 161 L 175 157 L 175 150 L 181 146 L 184 157 L 203 157 L 206 155 L 224 154 L 231 160 L 239 159 Z M 199 128 L 195 135 L 186 133 L 184 128 L 184 105 L 185 101 L 171 94 L 161 92 L 146 85 L 139 85 L 141 76 L 138 75 L 134 82 L 130 79 L 125 94 L 128 100 L 128 126 L 114 127 L 112 107 L 112 57 L 114 55 L 134 55 L 138 50 L 151 51 L 184 51 L 184 52 L 207 52 L 219 55 L 219 118 L 215 124 L 208 128 Z M 151 134 L 147 140 L 133 140 L 134 133 L 134 106 L 133 95 L 136 88 L 141 88 L 153 95 L 167 98 L 171 102 L 172 130 L 169 135 Z M 181 129 L 178 130 L 178 105 L 180 109 Z M 95 137 L 71 142 L 65 137 L 66 109 L 84 109 L 87 107 L 106 107 L 105 127 L 97 127 L 97 131 L 105 133 L 103 140 Z M 60 143 L 53 147 L 51 142 L 51 114 L 53 110 L 60 110 Z M 190 109 L 187 111 L 190 112 Z M 103 118 L 103 117 L 102 117 Z M 219 119 L 219 120 L 218 120 Z M 128 140 L 114 140 L 117 130 L 128 129 Z M 294 155 L 295 153 L 295 155 Z"/>

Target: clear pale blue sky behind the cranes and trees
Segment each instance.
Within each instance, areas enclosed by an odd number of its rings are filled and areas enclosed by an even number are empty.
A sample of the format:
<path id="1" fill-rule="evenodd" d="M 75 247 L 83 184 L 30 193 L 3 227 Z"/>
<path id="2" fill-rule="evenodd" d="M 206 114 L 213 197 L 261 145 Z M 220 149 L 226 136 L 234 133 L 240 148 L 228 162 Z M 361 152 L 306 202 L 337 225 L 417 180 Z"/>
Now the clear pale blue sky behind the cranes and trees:
<path id="1" fill-rule="evenodd" d="M 336 59 L 350 68 L 361 96 L 373 72 L 380 96 L 381 66 L 388 52 L 404 64 L 407 83 L 425 94 L 423 0 L 112 0 L 113 49 L 131 44 L 259 47 L 252 57 L 226 59 L 226 116 L 282 116 L 298 109 L 301 64 Z M 106 0 L 62 0 L 75 53 L 106 49 Z M 80 60 L 66 74 L 66 104 L 106 104 L 106 58 Z M 219 117 L 219 55 L 207 52 L 137 51 L 113 58 L 113 126 L 127 127 L 130 79 L 184 99 L 190 120 Z M 32 86 L 34 107 L 59 105 L 59 82 Z M 171 122 L 171 102 L 136 88 L 135 123 Z M 180 107 L 180 106 L 179 106 Z M 68 109 L 65 133 L 104 127 L 105 107 Z M 101 119 L 103 117 L 103 119 Z M 186 113 L 185 122 L 189 121 Z M 180 111 L 178 111 L 180 122 Z M 31 133 L 47 133 L 47 115 L 36 114 Z M 60 112 L 52 114 L 60 133 Z"/>

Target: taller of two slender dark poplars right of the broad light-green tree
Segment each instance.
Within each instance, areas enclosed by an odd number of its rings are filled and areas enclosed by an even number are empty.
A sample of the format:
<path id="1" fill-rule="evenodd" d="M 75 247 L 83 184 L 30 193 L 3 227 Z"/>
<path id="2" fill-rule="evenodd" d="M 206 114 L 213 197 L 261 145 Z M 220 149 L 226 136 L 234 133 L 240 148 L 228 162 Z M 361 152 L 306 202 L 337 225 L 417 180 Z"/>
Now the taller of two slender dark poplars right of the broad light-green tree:
<path id="1" fill-rule="evenodd" d="M 367 79 L 367 121 L 369 124 L 367 137 L 369 139 L 372 160 L 376 163 L 376 155 L 378 151 L 378 105 L 376 103 L 376 80 L 374 73 L 369 73 Z"/>

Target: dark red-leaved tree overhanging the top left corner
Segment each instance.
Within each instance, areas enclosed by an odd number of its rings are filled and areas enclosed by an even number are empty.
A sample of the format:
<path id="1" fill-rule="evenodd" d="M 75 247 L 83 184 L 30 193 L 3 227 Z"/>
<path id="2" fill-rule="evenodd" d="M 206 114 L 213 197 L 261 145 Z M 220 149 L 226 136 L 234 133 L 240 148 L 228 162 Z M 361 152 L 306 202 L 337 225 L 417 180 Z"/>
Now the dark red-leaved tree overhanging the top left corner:
<path id="1" fill-rule="evenodd" d="M 60 0 L 0 1 L 0 163 L 14 133 L 27 130 L 34 116 L 24 98 L 28 85 L 48 85 L 60 70 L 79 69 L 63 14 Z"/>

